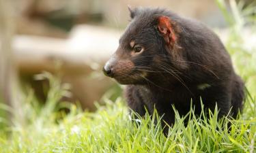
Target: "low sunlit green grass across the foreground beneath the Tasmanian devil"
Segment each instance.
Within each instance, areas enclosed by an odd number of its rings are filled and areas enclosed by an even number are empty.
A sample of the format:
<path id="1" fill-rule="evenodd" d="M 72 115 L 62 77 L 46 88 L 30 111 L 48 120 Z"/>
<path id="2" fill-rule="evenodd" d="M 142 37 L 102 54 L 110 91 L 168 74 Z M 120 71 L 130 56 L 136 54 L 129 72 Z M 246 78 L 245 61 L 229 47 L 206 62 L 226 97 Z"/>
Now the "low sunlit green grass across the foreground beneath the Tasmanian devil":
<path id="1" fill-rule="evenodd" d="M 59 97 L 59 91 L 52 90 Z M 53 98 L 53 97 L 51 97 Z M 53 102 L 53 101 L 52 101 Z M 252 103 L 253 101 L 246 101 Z M 255 101 L 254 101 L 255 102 Z M 33 103 L 33 101 L 28 101 Z M 56 105 L 55 105 L 56 107 Z M 30 109 L 33 109 L 31 107 Z M 28 112 L 31 110 L 27 109 Z M 36 108 L 35 108 L 36 109 Z M 256 118 L 217 121 L 196 118 L 193 111 L 184 126 L 176 114 L 176 124 L 167 137 L 162 133 L 159 116 L 134 120 L 122 99 L 98 106 L 97 112 L 81 112 L 74 105 L 70 113 L 59 114 L 47 106 L 28 114 L 25 126 L 13 126 L 0 137 L 0 152 L 255 152 Z M 171 108 L 170 108 L 171 109 Z M 32 111 L 33 112 L 33 111 Z M 48 115 L 41 116 L 42 112 Z M 245 111 L 244 114 L 246 114 Z M 251 115 L 256 112 L 250 110 Z M 136 114 L 133 114 L 136 115 Z M 201 114 L 201 116 L 204 116 Z"/>

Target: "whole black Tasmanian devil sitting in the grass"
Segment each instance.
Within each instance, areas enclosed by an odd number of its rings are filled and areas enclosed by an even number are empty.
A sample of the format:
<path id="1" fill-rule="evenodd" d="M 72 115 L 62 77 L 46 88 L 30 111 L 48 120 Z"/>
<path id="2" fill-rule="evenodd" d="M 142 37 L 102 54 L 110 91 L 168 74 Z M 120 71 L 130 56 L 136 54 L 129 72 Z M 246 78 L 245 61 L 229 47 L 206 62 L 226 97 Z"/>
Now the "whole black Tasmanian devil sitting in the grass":
<path id="1" fill-rule="evenodd" d="M 104 65 L 105 75 L 126 86 L 128 106 L 141 116 L 157 110 L 173 124 L 175 109 L 205 110 L 236 117 L 242 109 L 244 83 L 218 36 L 202 23 L 160 8 L 130 10 L 130 24 L 119 47 Z M 208 111 L 206 111 L 208 112 Z"/>

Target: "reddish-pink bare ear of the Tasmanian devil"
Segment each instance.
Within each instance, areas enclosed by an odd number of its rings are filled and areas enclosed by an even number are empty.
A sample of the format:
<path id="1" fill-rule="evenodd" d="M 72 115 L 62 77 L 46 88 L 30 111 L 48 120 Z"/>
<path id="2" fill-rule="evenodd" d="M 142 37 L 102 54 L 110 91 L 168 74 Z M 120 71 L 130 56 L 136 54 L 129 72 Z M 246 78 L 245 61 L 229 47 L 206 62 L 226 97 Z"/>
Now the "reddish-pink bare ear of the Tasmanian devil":
<path id="1" fill-rule="evenodd" d="M 176 36 L 171 25 L 171 19 L 167 16 L 158 17 L 158 30 L 164 37 L 167 44 L 173 46 Z"/>

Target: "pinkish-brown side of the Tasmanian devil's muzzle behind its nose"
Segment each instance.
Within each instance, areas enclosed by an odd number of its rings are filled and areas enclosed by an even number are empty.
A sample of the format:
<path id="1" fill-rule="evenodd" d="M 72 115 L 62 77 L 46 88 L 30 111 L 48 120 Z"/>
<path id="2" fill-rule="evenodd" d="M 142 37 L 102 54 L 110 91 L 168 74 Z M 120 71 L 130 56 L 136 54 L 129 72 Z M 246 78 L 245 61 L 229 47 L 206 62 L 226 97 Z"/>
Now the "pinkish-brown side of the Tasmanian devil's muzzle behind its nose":
<path id="1" fill-rule="evenodd" d="M 128 77 L 134 69 L 134 63 L 130 60 L 118 61 L 113 67 L 114 78 L 115 77 Z"/>

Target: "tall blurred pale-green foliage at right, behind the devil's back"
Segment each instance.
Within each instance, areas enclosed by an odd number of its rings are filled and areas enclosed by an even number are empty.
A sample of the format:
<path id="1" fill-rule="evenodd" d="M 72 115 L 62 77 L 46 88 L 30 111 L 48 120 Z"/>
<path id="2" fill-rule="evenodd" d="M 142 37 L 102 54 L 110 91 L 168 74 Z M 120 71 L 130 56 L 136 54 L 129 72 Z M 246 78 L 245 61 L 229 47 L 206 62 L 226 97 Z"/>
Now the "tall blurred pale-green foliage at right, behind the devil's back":
<path id="1" fill-rule="evenodd" d="M 255 35 L 256 32 L 256 2 L 244 7 L 242 1 L 236 4 L 236 1 L 231 0 L 231 12 L 225 9 L 225 1 L 217 2 L 230 26 L 225 46 L 246 87 L 252 95 L 256 95 L 256 45 L 246 43 L 250 41 L 247 36 Z"/>

